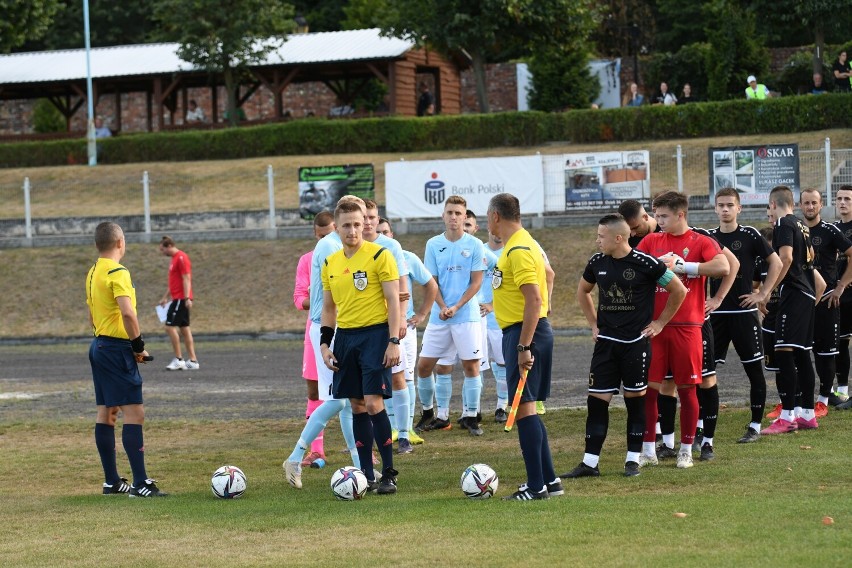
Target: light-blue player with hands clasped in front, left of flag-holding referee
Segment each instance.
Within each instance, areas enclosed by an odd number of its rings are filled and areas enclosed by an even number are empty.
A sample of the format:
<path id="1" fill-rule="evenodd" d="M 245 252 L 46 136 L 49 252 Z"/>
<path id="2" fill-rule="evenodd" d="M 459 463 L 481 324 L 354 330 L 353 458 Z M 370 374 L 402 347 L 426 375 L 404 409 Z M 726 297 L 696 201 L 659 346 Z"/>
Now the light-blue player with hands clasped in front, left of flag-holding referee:
<path id="1" fill-rule="evenodd" d="M 438 283 L 438 297 L 432 306 L 429 323 L 423 333 L 420 360 L 417 363 L 417 386 L 423 414 L 415 430 L 449 430 L 452 376 L 432 371 L 439 359 L 461 359 L 464 370 L 464 399 L 467 402 L 462 418 L 463 426 L 474 436 L 482 429 L 476 419 L 482 378 L 479 359 L 482 355 L 479 302 L 476 294 L 482 285 L 485 269 L 482 242 L 464 232 L 467 201 L 458 195 L 447 198 L 441 215 L 446 230 L 426 243 L 424 264 Z M 437 413 L 433 411 L 432 397 L 437 400 Z"/>

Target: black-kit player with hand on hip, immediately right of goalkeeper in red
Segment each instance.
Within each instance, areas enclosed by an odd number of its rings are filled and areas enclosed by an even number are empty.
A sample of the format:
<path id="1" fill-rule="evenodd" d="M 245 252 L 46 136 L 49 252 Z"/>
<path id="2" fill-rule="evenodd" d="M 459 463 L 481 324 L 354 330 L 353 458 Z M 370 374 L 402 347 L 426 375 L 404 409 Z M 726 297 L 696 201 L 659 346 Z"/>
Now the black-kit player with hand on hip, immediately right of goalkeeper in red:
<path id="1" fill-rule="evenodd" d="M 710 314 L 713 325 L 714 359 L 717 364 L 725 362 L 728 346 L 734 344 L 746 376 L 750 383 L 749 401 L 751 422 L 745 434 L 737 440 L 741 444 L 755 442 L 760 438 L 760 422 L 766 405 L 766 379 L 763 376 L 763 348 L 758 308 L 766 305 L 769 295 L 781 272 L 781 259 L 769 246 L 766 239 L 754 227 L 737 223 L 742 211 L 740 194 L 733 188 L 716 192 L 716 215 L 719 226 L 710 234 L 722 246 L 731 250 L 740 261 L 736 280 L 721 305 Z M 758 291 L 753 289 L 754 271 L 757 261 L 764 261 L 766 276 Z M 710 280 L 710 290 L 715 294 L 719 280 Z M 774 345 L 767 346 L 773 350 Z"/>

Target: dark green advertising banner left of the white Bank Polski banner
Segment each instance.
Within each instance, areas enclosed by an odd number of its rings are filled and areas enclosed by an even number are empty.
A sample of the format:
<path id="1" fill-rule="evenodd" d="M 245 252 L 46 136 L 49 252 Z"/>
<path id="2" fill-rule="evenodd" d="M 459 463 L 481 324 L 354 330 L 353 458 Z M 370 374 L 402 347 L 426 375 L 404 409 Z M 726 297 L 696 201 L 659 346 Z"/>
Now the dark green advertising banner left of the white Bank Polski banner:
<path id="1" fill-rule="evenodd" d="M 299 168 L 299 215 L 313 219 L 320 211 L 334 212 L 344 195 L 375 199 L 373 164 Z"/>

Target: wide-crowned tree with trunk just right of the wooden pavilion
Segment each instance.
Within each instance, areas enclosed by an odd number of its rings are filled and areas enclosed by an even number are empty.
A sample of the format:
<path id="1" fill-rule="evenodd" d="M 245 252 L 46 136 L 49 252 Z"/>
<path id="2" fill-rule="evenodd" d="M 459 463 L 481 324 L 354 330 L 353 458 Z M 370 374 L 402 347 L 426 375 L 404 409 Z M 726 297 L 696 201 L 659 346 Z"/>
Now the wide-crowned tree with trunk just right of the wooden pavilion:
<path id="1" fill-rule="evenodd" d="M 596 13 L 582 0 L 396 0 L 388 35 L 470 55 L 480 112 L 488 112 L 485 64 L 506 53 L 582 48 Z"/>

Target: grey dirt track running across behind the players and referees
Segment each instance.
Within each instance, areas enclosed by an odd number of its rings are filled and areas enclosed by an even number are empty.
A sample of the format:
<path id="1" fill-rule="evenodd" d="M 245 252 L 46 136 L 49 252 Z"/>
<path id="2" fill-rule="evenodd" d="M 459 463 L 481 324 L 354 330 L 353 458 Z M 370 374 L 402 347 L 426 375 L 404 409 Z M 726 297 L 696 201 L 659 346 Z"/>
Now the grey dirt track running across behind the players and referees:
<path id="1" fill-rule="evenodd" d="M 146 416 L 157 419 L 299 418 L 305 411 L 301 379 L 302 351 L 296 341 L 198 342 L 201 369 L 166 371 L 171 360 L 165 343 L 149 341 L 156 361 L 142 369 Z M 732 350 L 733 351 L 733 350 Z M 4 423 L 45 421 L 60 417 L 91 418 L 94 395 L 85 343 L 50 346 L 0 346 L 0 420 Z M 585 407 L 589 337 L 559 337 L 554 352 L 549 408 Z M 461 406 L 461 374 L 456 371 L 452 412 Z M 768 398 L 774 392 L 768 379 Z M 493 411 L 494 380 L 483 377 L 483 413 Z M 744 405 L 748 380 L 735 354 L 719 370 L 720 398 Z M 621 404 L 616 397 L 614 404 Z M 419 408 L 417 410 L 419 413 Z"/>

